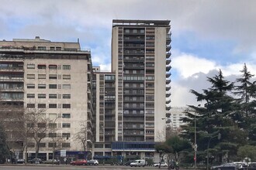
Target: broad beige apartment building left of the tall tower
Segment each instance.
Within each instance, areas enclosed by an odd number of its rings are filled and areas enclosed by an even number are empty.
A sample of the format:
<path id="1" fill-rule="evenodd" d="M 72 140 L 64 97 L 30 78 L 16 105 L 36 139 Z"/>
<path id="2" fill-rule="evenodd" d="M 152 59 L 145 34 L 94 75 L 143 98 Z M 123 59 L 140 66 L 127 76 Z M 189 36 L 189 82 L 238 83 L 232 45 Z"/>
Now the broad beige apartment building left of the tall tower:
<path id="1" fill-rule="evenodd" d="M 33 111 L 40 114 L 41 120 L 47 120 L 45 124 L 32 125 L 41 128 L 41 131 L 38 134 L 29 132 L 28 159 L 35 156 L 36 142 L 33 139 L 37 136 L 34 135 L 43 136 L 40 158 L 52 158 L 53 152 L 60 157 L 60 150 L 66 150 L 67 158 L 88 154 L 82 152 L 84 149 L 75 134 L 86 124 L 86 152 L 91 151 L 93 108 L 90 51 L 81 50 L 78 42 L 50 42 L 36 37 L 1 41 L 0 55 L 2 101 L 19 101 L 24 107 L 20 117 Z M 24 138 L 21 141 L 24 145 Z M 20 154 L 24 150 L 11 149 Z M 26 158 L 24 151 L 23 155 Z"/>

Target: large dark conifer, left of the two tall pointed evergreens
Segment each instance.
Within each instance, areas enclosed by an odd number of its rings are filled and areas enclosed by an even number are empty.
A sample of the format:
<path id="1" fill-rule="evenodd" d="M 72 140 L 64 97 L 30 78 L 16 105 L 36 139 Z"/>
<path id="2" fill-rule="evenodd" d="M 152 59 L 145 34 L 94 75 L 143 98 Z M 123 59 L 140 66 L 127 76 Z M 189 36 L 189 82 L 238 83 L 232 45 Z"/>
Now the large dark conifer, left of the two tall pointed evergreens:
<path id="1" fill-rule="evenodd" d="M 207 77 L 207 80 L 211 83 L 211 87 L 202 90 L 202 93 L 191 90 L 196 99 L 205 104 L 202 107 L 190 105 L 189 107 L 194 111 L 185 111 L 188 117 L 183 119 L 187 124 L 183 127 L 182 137 L 191 142 L 194 142 L 196 122 L 198 162 L 205 160 L 209 138 L 219 131 L 221 134 L 227 135 L 222 135 L 223 138 L 220 141 L 213 139 L 210 148 L 216 150 L 213 154 L 215 153 L 215 157 L 219 157 L 220 160 L 222 160 L 222 155 L 226 153 L 229 153 L 229 155 L 235 154 L 237 148 L 241 145 L 240 141 L 246 141 L 244 135 L 230 140 L 234 135 L 234 128 L 237 126 L 234 115 L 239 114 L 239 111 L 237 111 L 239 105 L 231 96 L 234 83 L 225 80 L 221 70 L 217 75 Z M 239 131 L 243 132 L 242 129 L 239 129 Z"/>

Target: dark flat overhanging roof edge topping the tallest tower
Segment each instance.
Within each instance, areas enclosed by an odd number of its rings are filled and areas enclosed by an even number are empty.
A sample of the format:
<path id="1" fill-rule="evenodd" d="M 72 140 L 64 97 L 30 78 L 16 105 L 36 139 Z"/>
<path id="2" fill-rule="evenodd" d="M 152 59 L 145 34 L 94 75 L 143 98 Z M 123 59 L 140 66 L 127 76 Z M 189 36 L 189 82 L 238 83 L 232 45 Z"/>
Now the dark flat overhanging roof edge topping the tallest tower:
<path id="1" fill-rule="evenodd" d="M 171 20 L 113 19 L 112 26 L 169 26 Z"/>

